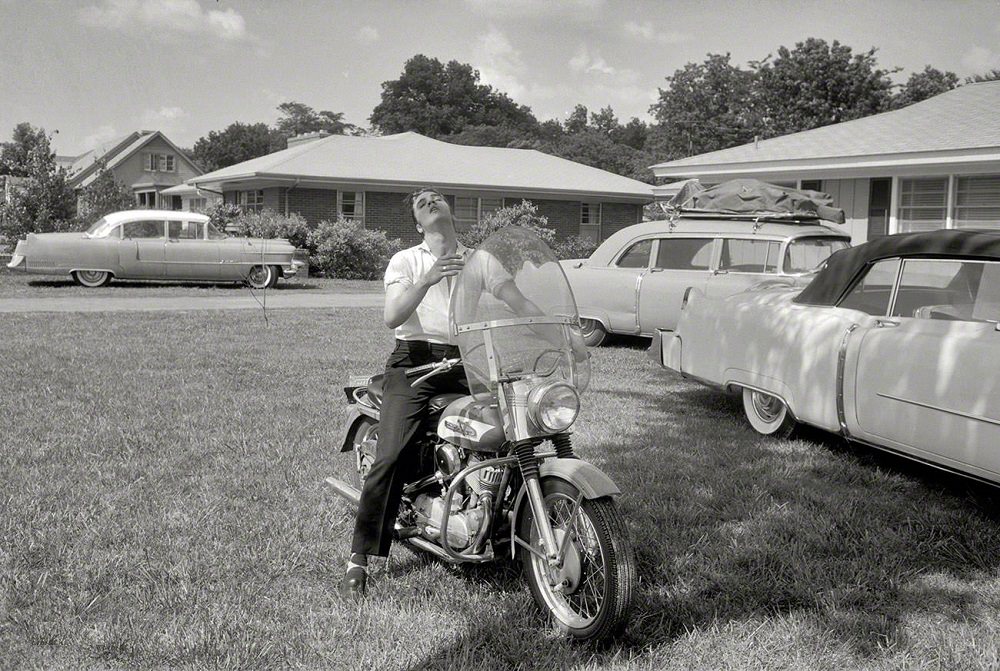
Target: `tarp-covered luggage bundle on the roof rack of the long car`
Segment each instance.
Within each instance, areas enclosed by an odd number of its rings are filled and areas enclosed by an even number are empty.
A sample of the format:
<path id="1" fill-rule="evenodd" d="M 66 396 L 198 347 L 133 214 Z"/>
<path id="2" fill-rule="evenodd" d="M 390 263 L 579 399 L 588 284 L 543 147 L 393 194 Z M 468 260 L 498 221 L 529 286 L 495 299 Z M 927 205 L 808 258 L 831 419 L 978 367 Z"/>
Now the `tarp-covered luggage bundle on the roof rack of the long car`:
<path id="1" fill-rule="evenodd" d="M 814 223 L 817 219 L 843 224 L 844 211 L 821 191 L 791 189 L 756 179 L 734 179 L 704 187 L 691 180 L 667 203 L 674 216 L 730 217 Z"/>

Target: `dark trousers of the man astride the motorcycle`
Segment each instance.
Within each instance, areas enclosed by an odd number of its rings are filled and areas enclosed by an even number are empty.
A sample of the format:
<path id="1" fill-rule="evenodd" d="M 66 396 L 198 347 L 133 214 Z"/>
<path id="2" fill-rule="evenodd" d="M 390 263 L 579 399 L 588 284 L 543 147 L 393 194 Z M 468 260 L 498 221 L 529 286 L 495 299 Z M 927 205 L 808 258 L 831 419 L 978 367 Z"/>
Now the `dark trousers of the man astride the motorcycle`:
<path id="1" fill-rule="evenodd" d="M 426 426 L 427 404 L 438 394 L 469 393 L 460 366 L 416 387 L 410 384 L 419 376 L 407 378 L 407 369 L 457 356 L 458 348 L 453 345 L 396 341 L 396 349 L 385 364 L 378 447 L 375 462 L 361 488 L 352 553 L 381 557 L 389 554 L 403 485 L 415 478 L 419 468 L 417 444 Z"/>

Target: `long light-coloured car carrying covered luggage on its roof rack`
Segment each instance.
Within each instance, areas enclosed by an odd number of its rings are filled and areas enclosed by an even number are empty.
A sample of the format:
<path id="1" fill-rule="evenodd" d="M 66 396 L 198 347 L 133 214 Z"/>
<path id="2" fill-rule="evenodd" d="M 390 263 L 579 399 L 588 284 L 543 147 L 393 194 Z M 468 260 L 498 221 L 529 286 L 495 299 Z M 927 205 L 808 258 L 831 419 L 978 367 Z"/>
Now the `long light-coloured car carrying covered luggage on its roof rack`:
<path id="1" fill-rule="evenodd" d="M 729 296 L 768 279 L 804 286 L 820 263 L 850 244 L 849 235 L 815 219 L 688 213 L 623 228 L 589 259 L 562 264 L 584 339 L 594 347 L 608 333 L 652 336 L 674 328 L 688 287 Z"/>

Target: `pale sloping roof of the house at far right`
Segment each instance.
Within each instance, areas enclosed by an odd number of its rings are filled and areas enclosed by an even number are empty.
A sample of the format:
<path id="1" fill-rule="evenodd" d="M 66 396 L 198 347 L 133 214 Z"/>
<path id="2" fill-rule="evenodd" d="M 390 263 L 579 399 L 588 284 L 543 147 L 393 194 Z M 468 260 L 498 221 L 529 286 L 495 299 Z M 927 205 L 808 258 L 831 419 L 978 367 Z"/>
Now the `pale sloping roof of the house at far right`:
<path id="1" fill-rule="evenodd" d="M 704 175 L 812 161 L 882 163 L 933 154 L 1000 149 L 1000 81 L 967 84 L 908 107 L 652 166 L 657 176 Z M 872 165 L 875 165 L 874 163 Z"/>

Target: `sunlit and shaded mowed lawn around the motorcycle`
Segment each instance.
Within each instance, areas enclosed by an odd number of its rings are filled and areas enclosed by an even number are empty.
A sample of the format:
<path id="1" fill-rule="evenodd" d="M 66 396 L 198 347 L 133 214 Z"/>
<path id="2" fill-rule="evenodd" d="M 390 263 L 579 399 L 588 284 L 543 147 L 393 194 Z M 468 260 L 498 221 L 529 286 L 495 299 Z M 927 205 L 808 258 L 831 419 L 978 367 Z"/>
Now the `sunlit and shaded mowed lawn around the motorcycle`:
<path id="1" fill-rule="evenodd" d="M 645 343 L 594 350 L 577 451 L 622 488 L 640 584 L 604 647 L 508 563 L 396 547 L 336 593 L 323 484 L 379 310 L 0 315 L 0 667 L 991 669 L 996 492 L 836 438 L 757 437 Z"/>

